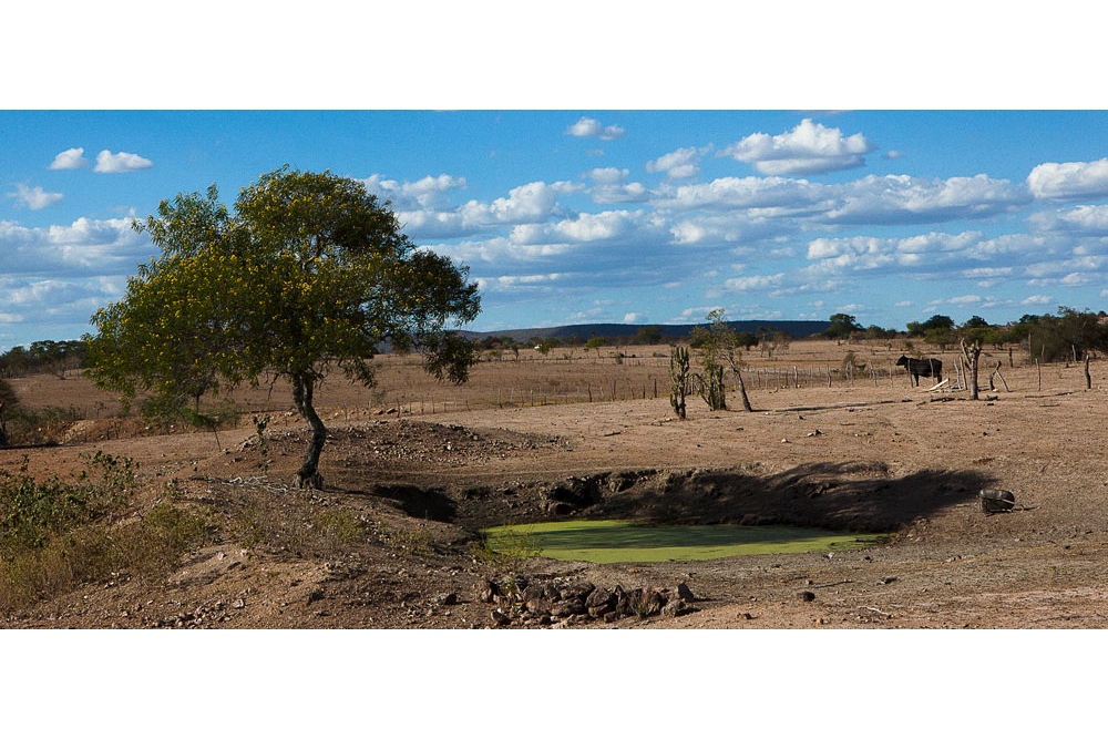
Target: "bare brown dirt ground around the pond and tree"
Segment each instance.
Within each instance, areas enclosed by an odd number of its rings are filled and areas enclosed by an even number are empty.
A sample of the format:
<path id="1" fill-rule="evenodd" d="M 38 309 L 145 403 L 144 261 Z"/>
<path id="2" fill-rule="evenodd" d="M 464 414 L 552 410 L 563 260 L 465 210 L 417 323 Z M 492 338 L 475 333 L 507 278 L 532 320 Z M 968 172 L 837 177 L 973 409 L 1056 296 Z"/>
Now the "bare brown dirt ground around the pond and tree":
<path id="1" fill-rule="evenodd" d="M 1099 369 L 1094 363 L 1094 377 Z M 135 459 L 145 501 L 172 495 L 252 521 L 164 581 L 126 573 L 9 614 L 6 628 L 925 629 L 1108 626 L 1108 396 L 1077 366 L 1008 369 L 1010 390 L 914 388 L 903 376 L 832 388 L 751 389 L 755 412 L 666 398 L 435 415 L 334 410 L 312 494 L 288 489 L 305 433 L 254 428 L 0 450 L 14 470 L 71 469 L 81 453 Z M 41 380 L 45 381 L 45 380 Z M 66 379 L 66 388 L 79 382 Z M 63 383 L 64 384 L 64 383 Z M 88 389 L 85 390 L 88 392 Z M 741 408 L 735 393 L 732 408 Z M 92 437 L 92 439 L 90 439 Z M 983 489 L 1015 495 L 986 515 Z M 560 494 L 561 492 L 561 494 Z M 306 543 L 296 522 L 343 511 L 356 545 Z M 489 562 L 474 532 L 501 523 L 634 517 L 796 523 L 892 532 L 852 552 L 597 565 Z M 229 531 L 229 530 L 227 530 Z M 283 540 L 283 536 L 286 537 Z M 283 544 L 287 541 L 287 544 Z M 534 618 L 488 582 L 677 588 L 681 615 Z M 485 592 L 483 593 L 483 589 Z"/>

